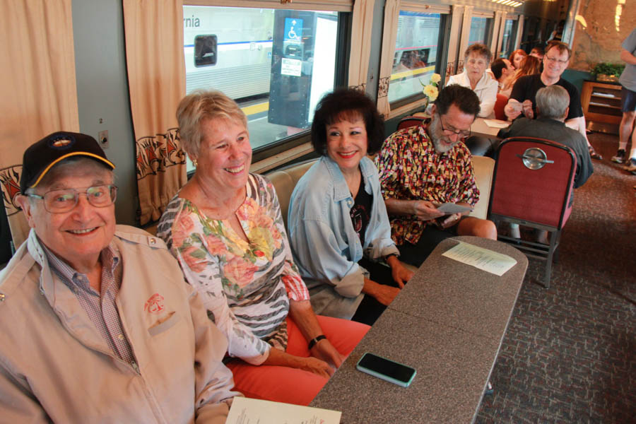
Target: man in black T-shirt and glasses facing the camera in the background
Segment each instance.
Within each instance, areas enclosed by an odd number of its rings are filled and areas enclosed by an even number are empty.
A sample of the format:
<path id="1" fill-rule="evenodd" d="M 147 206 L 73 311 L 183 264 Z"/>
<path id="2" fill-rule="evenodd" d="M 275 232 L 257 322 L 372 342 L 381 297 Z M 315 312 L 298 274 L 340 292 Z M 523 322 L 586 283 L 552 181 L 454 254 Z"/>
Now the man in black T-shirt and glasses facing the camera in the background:
<path id="1" fill-rule="evenodd" d="M 569 81 L 561 78 L 567 65 L 570 64 L 572 50 L 565 43 L 560 41 L 550 41 L 543 54 L 543 71 L 535 75 L 522 76 L 514 83 L 510 99 L 508 100 L 504 112 L 510 121 L 517 119 L 523 114 L 528 119 L 536 119 L 536 92 L 543 87 L 552 85 L 561 86 L 567 90 L 570 96 L 569 112 L 565 118 L 565 125 L 579 131 L 584 137 L 589 155 L 592 159 L 601 160 L 599 153 L 594 151 L 587 139 L 585 117 L 581 106 L 581 95 L 579 90 Z"/>

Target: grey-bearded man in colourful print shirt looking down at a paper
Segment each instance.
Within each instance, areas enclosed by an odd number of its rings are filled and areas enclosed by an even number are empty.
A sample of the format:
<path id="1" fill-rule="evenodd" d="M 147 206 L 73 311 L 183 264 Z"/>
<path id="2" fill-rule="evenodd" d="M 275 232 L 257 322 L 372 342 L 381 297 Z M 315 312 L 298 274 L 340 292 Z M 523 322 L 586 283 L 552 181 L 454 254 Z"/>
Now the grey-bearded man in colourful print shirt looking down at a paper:
<path id="1" fill-rule="evenodd" d="M 391 134 L 375 158 L 401 261 L 420 266 L 439 242 L 455 235 L 497 239 L 492 221 L 468 216 L 479 189 L 463 141 L 471 135 L 478 113 L 473 90 L 446 86 L 431 107 L 430 124 Z M 446 203 L 465 206 L 466 211 L 438 210 Z"/>

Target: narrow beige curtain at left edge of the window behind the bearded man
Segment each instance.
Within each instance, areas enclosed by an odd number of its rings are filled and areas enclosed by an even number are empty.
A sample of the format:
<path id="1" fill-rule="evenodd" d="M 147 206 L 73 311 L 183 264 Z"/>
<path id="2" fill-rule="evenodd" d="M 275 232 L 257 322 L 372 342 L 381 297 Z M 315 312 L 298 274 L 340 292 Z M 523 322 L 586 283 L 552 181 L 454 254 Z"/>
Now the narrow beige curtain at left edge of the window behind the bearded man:
<path id="1" fill-rule="evenodd" d="M 393 55 L 395 51 L 395 37 L 400 13 L 401 0 L 387 0 L 384 5 L 384 31 L 382 32 L 382 64 L 377 86 L 377 110 L 389 116 L 389 81 L 393 71 Z"/>

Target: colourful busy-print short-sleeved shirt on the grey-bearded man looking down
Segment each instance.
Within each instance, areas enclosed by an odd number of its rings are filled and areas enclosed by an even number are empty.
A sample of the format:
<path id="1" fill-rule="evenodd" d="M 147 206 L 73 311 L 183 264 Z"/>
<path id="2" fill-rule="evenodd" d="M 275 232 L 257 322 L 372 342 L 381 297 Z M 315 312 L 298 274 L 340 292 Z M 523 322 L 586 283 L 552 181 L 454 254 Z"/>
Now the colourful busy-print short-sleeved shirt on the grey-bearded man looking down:
<path id="1" fill-rule="evenodd" d="M 473 174 L 471 153 L 457 143 L 446 153 L 437 153 L 424 126 L 391 134 L 376 156 L 384 199 L 428 200 L 443 204 L 465 202 L 475 206 L 479 189 Z M 391 237 L 396 245 L 416 244 L 426 221 L 416 216 L 391 216 Z"/>

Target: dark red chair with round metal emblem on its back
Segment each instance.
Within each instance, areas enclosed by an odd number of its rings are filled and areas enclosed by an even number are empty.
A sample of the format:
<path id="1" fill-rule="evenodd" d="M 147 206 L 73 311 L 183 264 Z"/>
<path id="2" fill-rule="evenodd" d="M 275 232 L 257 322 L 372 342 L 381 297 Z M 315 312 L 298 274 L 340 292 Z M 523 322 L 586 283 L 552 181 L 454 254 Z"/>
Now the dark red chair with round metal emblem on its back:
<path id="1" fill-rule="evenodd" d="M 526 256 L 546 261 L 546 288 L 561 230 L 572 212 L 576 168 L 575 153 L 554 141 L 514 137 L 502 141 L 497 151 L 488 218 L 548 231 L 548 245 L 499 236 Z"/>

